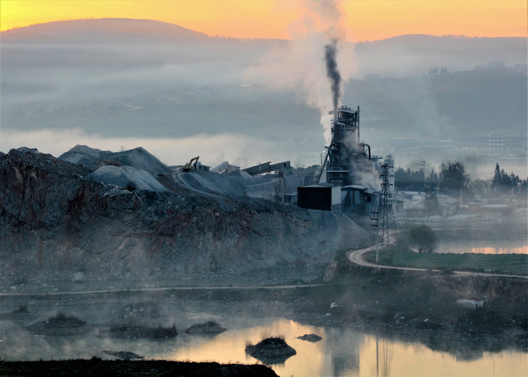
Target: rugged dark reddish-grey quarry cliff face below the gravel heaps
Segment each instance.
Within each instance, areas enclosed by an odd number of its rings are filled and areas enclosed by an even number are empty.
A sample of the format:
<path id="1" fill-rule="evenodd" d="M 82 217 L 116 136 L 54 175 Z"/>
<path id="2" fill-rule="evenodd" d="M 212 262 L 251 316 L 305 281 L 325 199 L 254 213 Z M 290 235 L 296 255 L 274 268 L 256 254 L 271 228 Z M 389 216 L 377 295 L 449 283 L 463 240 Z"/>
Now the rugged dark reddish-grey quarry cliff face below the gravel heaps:
<path id="1" fill-rule="evenodd" d="M 87 179 L 93 169 L 29 148 L 0 153 L 0 279 L 244 272 L 328 263 L 365 241 L 341 213 L 201 195 L 166 177 L 153 177 L 166 191 L 130 192 Z"/>

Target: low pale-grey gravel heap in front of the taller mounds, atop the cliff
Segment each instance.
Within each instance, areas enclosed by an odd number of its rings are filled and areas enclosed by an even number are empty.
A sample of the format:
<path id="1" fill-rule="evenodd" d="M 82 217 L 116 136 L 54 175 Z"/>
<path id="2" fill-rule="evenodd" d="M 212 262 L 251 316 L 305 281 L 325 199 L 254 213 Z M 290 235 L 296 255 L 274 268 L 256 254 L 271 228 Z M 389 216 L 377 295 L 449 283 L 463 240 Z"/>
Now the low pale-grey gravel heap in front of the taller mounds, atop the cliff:
<path id="1" fill-rule="evenodd" d="M 88 174 L 86 178 L 130 190 L 168 191 L 148 172 L 130 166 L 101 166 L 95 172 Z"/>

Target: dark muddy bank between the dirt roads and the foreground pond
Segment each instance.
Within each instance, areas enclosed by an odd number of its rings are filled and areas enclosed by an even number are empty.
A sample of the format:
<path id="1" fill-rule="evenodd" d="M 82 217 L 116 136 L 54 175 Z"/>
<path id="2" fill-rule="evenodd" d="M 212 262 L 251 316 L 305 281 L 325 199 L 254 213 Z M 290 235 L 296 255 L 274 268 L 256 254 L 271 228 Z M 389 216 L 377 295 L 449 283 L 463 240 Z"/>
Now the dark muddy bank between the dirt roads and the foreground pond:
<path id="1" fill-rule="evenodd" d="M 523 309 L 523 294 L 528 282 L 521 279 L 442 277 L 428 272 L 410 274 L 354 267 L 340 269 L 334 281 L 333 284 L 314 287 L 275 289 L 204 288 L 4 296 L 2 305 L 6 310 L 24 304 L 30 310 L 32 306 L 50 304 L 66 307 L 119 304 L 126 309 L 140 303 L 155 302 L 160 308 L 158 310 L 167 305 L 196 309 L 206 307 L 211 312 L 229 307 L 247 315 L 258 312 L 307 325 L 358 328 L 454 341 L 478 340 L 486 344 L 496 342 L 505 347 L 511 344 L 523 347 L 523 340 L 528 338 L 528 316 Z M 466 295 L 482 297 L 484 308 L 455 307 L 456 298 Z M 179 324 L 176 322 L 176 325 Z"/>

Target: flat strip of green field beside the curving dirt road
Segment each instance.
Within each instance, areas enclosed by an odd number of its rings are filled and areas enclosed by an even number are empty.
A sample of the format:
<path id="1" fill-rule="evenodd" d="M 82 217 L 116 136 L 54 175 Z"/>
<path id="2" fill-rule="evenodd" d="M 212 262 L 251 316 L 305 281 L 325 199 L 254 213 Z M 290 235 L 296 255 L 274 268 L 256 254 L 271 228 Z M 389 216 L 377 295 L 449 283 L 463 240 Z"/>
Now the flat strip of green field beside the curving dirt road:
<path id="1" fill-rule="evenodd" d="M 498 275 L 528 275 L 528 255 L 526 254 L 450 254 L 417 253 L 412 250 L 380 250 L 380 265 L 443 269 L 454 267 L 457 271 L 484 272 L 492 269 Z M 375 262 L 376 252 L 365 254 L 365 259 Z M 486 271 L 486 273 L 489 273 Z"/>

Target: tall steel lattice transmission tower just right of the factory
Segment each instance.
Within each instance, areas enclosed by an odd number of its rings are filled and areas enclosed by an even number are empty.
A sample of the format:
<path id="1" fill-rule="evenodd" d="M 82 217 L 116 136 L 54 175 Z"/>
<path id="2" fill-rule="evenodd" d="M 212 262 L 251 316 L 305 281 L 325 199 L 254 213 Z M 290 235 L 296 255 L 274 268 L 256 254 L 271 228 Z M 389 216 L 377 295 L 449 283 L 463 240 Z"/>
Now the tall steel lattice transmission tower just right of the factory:
<path id="1" fill-rule="evenodd" d="M 382 173 L 380 174 L 380 177 L 382 178 L 382 182 L 380 205 L 378 207 L 378 212 L 373 212 L 374 216 L 371 218 L 371 220 L 376 221 L 375 224 L 372 224 L 376 227 L 374 233 L 374 246 L 377 248 L 378 245 L 380 245 L 382 249 L 396 243 L 397 241 L 396 221 L 394 220 L 393 208 L 394 202 L 389 190 L 389 187 L 392 185 L 389 183 L 389 178 L 393 177 L 393 175 L 390 174 L 389 169 L 392 167 L 393 166 L 390 166 L 389 164 L 381 165 Z"/>

